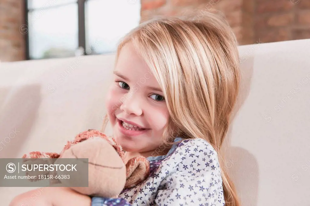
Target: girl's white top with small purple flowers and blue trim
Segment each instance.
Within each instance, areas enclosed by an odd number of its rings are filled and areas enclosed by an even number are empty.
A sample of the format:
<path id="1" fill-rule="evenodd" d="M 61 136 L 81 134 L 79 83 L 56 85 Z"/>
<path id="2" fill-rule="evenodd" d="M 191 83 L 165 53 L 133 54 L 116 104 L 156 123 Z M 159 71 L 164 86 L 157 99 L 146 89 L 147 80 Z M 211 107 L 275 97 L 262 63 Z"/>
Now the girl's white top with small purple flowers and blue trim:
<path id="1" fill-rule="evenodd" d="M 203 139 L 175 139 L 167 155 L 148 157 L 150 175 L 119 198 L 92 197 L 92 206 L 224 206 L 216 151 Z M 179 142 L 179 143 L 177 143 Z"/>

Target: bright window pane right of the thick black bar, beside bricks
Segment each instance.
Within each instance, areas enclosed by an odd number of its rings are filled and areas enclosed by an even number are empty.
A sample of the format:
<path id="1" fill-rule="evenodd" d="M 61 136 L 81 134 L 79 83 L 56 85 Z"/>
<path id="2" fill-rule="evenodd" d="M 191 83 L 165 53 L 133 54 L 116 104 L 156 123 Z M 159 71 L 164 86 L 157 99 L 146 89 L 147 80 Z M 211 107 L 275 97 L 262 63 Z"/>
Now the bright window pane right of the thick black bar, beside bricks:
<path id="1" fill-rule="evenodd" d="M 114 52 L 119 40 L 140 21 L 138 0 L 88 0 L 85 10 L 87 54 Z"/>

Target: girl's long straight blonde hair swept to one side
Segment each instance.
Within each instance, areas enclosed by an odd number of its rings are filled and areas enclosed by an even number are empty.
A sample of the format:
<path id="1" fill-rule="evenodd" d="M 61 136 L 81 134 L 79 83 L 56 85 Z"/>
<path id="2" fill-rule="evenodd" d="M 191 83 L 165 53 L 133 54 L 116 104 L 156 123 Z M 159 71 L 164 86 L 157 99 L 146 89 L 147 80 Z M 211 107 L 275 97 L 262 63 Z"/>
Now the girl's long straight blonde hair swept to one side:
<path id="1" fill-rule="evenodd" d="M 202 138 L 217 152 L 228 130 L 239 90 L 237 41 L 216 14 L 193 20 L 162 16 L 142 22 L 117 48 L 131 42 L 162 87 L 170 119 L 164 136 Z M 177 129 L 176 129 L 177 128 Z M 227 206 L 239 206 L 228 173 L 221 169 Z"/>

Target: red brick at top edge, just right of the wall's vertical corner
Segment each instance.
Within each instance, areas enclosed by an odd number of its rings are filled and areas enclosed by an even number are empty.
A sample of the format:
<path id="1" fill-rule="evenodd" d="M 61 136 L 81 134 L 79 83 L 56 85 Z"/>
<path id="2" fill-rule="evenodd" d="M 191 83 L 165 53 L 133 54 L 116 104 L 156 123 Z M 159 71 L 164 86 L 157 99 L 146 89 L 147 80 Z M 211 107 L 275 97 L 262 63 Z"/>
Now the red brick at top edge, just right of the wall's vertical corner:
<path id="1" fill-rule="evenodd" d="M 284 12 L 291 11 L 294 4 L 288 0 L 272 0 L 272 1 L 258 1 L 256 2 L 257 13 L 268 12 Z"/>

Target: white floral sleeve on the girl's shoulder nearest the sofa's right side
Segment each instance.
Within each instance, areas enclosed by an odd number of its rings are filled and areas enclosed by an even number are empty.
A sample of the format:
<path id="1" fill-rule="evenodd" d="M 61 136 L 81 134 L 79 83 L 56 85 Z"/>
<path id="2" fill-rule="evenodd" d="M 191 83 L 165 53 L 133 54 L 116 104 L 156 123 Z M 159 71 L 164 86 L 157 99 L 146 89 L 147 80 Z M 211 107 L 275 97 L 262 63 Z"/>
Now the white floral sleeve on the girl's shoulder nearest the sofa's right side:
<path id="1" fill-rule="evenodd" d="M 172 172 L 160 184 L 155 199 L 158 206 L 224 206 L 219 161 L 214 148 L 205 140 L 184 144 Z"/>

